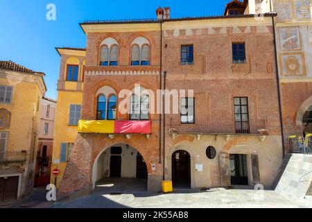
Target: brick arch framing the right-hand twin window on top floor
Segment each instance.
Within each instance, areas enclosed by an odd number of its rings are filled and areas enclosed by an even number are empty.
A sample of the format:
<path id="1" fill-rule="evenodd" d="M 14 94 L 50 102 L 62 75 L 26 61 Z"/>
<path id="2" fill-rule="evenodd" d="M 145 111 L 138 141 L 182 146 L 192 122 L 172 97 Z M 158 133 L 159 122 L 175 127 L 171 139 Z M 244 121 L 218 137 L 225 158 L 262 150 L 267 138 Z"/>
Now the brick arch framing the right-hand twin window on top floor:
<path id="1" fill-rule="evenodd" d="M 131 43 L 133 40 L 135 40 L 137 37 L 145 37 L 148 42 L 150 42 L 150 65 L 154 65 L 153 62 L 155 61 L 155 52 L 156 51 L 156 42 L 154 38 L 145 32 L 136 32 L 133 33 L 128 37 L 128 41 L 125 43 L 124 48 L 125 51 L 128 51 L 128 64 L 131 65 Z"/>

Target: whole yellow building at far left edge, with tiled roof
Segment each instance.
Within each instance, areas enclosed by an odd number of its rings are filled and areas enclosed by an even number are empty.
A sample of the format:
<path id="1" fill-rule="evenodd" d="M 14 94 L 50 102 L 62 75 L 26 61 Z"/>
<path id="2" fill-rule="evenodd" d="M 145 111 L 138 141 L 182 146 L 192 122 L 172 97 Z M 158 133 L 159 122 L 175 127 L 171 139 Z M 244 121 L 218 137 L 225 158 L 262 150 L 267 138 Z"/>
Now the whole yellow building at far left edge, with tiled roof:
<path id="1" fill-rule="evenodd" d="M 33 189 L 44 74 L 0 61 L 0 203 Z"/>

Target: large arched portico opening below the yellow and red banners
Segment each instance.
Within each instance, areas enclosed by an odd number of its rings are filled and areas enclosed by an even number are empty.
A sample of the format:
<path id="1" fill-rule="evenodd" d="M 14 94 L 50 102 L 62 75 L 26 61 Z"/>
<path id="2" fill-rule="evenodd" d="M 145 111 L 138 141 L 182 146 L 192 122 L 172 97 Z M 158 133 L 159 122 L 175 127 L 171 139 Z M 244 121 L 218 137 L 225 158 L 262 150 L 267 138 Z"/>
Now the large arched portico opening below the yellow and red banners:
<path id="1" fill-rule="evenodd" d="M 110 187 L 122 191 L 147 190 L 148 170 L 144 157 L 128 144 L 105 148 L 94 161 L 93 188 Z"/>

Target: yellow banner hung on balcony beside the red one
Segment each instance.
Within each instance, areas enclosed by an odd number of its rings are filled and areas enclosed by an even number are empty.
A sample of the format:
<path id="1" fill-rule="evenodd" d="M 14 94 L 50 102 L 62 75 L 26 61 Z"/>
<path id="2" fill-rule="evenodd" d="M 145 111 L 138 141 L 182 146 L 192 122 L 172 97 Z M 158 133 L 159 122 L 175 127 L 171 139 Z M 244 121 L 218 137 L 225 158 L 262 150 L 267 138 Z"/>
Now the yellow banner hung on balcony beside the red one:
<path id="1" fill-rule="evenodd" d="M 80 120 L 79 133 L 114 133 L 114 121 Z"/>

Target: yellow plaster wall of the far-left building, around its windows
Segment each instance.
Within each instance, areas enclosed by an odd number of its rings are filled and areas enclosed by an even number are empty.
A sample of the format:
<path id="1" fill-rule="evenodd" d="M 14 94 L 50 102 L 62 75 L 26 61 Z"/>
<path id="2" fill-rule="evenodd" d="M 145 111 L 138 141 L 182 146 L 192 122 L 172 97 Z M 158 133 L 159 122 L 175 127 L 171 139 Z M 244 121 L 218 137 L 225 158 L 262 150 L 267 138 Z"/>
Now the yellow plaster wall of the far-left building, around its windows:
<path id="1" fill-rule="evenodd" d="M 8 133 L 6 151 L 27 151 L 20 187 L 20 194 L 24 195 L 31 189 L 28 184 L 29 179 L 33 180 L 33 174 L 29 178 L 29 173 L 35 171 L 37 154 L 35 144 L 38 142 L 41 101 L 46 89 L 41 76 L 8 70 L 0 70 L 0 74 L 0 85 L 13 87 L 11 103 L 0 103 L 0 108 L 6 108 L 11 112 L 10 127 L 0 128 L 1 132 Z"/>

